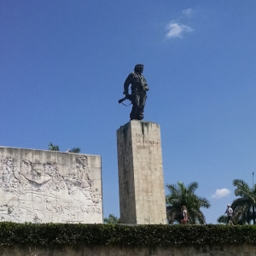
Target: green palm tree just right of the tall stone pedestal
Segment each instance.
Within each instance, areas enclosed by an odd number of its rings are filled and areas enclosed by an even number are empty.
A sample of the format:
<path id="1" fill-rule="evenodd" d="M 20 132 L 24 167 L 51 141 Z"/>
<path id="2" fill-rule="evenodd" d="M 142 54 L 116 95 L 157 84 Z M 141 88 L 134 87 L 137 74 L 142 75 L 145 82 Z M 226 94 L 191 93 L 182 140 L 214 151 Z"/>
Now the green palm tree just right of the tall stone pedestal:
<path id="1" fill-rule="evenodd" d="M 186 206 L 189 215 L 190 224 L 205 224 L 206 218 L 200 208 L 210 207 L 210 202 L 206 198 L 195 195 L 195 189 L 198 188 L 198 183 L 192 182 L 186 187 L 184 183 L 166 184 L 170 195 L 166 195 L 166 211 L 167 218 L 170 224 L 180 220 L 180 211 L 182 206 Z"/>

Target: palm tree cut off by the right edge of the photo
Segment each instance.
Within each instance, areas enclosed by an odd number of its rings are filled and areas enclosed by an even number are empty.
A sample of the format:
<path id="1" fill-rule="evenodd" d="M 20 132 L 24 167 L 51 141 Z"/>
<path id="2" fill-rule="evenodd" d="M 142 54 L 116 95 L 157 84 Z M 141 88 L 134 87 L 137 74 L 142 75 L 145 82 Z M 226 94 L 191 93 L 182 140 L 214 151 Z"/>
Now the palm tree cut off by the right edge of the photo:
<path id="1" fill-rule="evenodd" d="M 231 205 L 234 211 L 233 219 L 243 224 L 250 224 L 253 219 L 253 224 L 255 224 L 256 185 L 250 188 L 241 179 L 234 179 L 233 185 L 236 186 L 235 195 L 240 196 Z"/>

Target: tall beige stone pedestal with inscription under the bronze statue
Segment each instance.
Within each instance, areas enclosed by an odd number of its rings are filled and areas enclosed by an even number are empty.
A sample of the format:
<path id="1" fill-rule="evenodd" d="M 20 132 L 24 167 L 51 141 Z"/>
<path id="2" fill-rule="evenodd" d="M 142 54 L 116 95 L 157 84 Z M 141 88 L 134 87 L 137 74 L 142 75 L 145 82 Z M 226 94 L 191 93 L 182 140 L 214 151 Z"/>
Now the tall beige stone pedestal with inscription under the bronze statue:
<path id="1" fill-rule="evenodd" d="M 131 120 L 117 131 L 122 224 L 166 224 L 160 125 Z"/>

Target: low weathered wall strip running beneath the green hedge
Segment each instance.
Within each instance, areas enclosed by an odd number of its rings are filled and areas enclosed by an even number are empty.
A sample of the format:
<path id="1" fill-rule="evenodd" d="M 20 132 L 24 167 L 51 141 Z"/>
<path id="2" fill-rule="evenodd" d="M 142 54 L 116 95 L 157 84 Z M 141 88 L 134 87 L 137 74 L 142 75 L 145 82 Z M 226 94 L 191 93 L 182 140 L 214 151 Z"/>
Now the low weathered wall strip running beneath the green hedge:
<path id="1" fill-rule="evenodd" d="M 195 245 L 172 247 L 47 246 L 0 247 L 0 255 L 15 256 L 255 256 L 255 245 Z"/>

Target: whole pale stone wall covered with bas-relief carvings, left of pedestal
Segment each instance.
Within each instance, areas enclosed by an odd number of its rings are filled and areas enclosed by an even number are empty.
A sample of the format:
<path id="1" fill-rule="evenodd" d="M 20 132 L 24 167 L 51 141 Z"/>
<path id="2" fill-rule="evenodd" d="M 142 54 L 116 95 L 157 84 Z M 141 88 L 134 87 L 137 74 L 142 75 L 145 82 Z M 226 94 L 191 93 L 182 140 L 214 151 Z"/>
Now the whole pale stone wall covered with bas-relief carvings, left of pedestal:
<path id="1" fill-rule="evenodd" d="M 0 221 L 102 223 L 101 165 L 98 155 L 0 147 Z"/>

